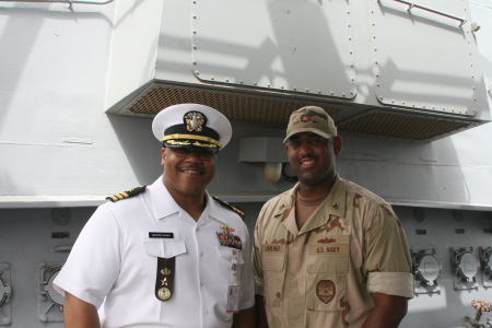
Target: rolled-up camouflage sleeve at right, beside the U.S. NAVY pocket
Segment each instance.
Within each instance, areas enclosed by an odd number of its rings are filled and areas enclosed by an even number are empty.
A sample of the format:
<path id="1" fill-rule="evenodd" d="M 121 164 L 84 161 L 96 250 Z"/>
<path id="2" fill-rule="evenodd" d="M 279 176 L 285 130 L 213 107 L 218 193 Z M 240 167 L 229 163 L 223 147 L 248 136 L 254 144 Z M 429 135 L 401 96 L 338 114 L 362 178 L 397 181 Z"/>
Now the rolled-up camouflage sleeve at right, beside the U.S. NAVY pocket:
<path id="1" fill-rule="evenodd" d="M 388 204 L 379 204 L 367 214 L 363 267 L 367 291 L 413 297 L 411 257 L 400 221 Z"/>

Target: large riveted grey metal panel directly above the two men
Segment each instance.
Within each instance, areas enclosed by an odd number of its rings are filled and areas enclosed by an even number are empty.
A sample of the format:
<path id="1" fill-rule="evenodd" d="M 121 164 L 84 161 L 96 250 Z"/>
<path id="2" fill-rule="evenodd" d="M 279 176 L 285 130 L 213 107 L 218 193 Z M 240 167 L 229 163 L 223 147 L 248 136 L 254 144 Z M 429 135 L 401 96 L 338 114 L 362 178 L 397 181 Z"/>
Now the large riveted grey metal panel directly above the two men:
<path id="1" fill-rule="evenodd" d="M 194 1 L 197 79 L 353 98 L 348 1 Z"/>

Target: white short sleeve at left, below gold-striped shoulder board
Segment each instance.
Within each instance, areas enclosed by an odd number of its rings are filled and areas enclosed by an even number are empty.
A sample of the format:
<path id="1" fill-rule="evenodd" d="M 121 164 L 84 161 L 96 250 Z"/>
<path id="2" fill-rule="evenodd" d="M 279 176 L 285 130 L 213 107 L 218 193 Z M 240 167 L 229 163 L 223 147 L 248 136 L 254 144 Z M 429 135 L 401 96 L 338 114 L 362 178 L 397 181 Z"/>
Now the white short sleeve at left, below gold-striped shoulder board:
<path id="1" fill-rule="evenodd" d="M 119 227 L 106 203 L 83 227 L 54 288 L 63 296 L 69 292 L 98 308 L 116 281 L 120 265 Z"/>

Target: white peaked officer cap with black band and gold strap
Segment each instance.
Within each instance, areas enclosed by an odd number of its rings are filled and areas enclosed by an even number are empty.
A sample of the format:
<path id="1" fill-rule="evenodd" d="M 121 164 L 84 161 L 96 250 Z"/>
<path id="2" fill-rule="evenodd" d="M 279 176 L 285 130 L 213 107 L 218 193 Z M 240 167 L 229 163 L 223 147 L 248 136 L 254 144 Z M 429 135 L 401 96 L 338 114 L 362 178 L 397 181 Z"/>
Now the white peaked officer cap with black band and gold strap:
<path id="1" fill-rule="evenodd" d="M 232 136 L 231 122 L 216 109 L 198 104 L 166 107 L 152 122 L 152 131 L 164 147 L 224 148 Z"/>

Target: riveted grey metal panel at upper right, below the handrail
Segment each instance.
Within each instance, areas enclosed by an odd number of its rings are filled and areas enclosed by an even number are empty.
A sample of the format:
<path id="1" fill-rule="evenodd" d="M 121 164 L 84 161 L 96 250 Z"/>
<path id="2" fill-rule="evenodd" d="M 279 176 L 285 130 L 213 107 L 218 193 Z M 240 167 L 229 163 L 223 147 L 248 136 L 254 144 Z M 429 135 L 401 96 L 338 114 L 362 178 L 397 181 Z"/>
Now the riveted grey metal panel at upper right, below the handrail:
<path id="1" fill-rule="evenodd" d="M 483 74 L 469 22 L 461 24 L 417 7 L 408 10 L 395 0 L 370 2 L 380 103 L 472 117 L 487 108 L 480 96 Z M 462 1 L 431 2 L 435 9 L 469 16 Z"/>

